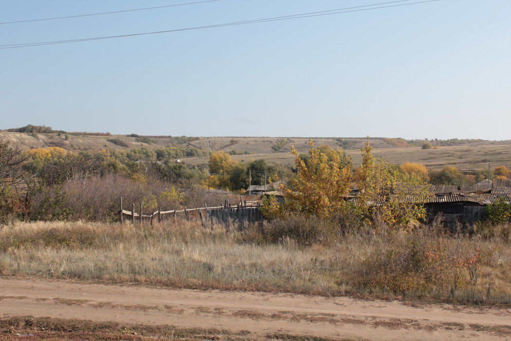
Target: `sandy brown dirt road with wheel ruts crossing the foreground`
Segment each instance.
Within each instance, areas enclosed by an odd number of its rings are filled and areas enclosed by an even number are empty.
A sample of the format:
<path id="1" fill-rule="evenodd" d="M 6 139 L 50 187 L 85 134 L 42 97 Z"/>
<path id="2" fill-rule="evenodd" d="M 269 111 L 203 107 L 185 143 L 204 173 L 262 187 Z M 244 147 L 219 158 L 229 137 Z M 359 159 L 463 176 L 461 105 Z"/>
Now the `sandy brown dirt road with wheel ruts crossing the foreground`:
<path id="1" fill-rule="evenodd" d="M 511 340 L 511 310 L 296 294 L 0 278 L 0 316 L 49 316 L 334 339 Z"/>

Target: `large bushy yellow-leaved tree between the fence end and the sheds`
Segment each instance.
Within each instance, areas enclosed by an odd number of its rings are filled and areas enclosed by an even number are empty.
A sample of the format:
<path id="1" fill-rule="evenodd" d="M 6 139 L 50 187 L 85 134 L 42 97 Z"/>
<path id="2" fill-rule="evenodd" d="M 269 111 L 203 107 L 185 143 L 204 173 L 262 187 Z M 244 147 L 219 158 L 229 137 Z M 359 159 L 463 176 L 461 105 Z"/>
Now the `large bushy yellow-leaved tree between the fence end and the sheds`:
<path id="1" fill-rule="evenodd" d="M 320 217 L 329 217 L 346 202 L 352 184 L 352 164 L 346 163 L 342 151 L 314 148 L 310 150 L 307 163 L 294 146 L 296 175 L 283 187 L 284 197 L 295 209 Z"/>

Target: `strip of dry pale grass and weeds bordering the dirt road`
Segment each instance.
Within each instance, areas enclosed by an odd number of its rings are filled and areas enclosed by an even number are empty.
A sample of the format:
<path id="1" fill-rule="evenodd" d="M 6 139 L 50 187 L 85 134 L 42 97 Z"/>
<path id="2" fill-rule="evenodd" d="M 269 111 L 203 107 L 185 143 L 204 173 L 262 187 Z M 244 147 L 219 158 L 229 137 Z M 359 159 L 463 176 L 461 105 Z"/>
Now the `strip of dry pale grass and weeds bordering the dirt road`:
<path id="1" fill-rule="evenodd" d="M 242 233 L 193 221 L 20 222 L 0 230 L 0 275 L 511 306 L 504 233 L 449 236 L 424 227 L 265 242 L 282 225 Z"/>

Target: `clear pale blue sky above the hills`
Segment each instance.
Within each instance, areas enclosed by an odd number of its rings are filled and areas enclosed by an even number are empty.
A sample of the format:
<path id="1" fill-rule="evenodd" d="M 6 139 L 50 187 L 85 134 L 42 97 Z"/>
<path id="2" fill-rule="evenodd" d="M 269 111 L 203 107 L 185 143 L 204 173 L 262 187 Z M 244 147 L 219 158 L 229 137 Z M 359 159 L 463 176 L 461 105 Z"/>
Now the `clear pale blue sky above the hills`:
<path id="1" fill-rule="evenodd" d="M 0 22 L 193 0 L 2 0 Z M 385 0 L 221 0 L 0 25 L 0 45 L 223 24 Z M 412 3 L 416 1 L 408 1 Z M 412 6 L 0 50 L 0 128 L 511 139 L 511 1 Z"/>

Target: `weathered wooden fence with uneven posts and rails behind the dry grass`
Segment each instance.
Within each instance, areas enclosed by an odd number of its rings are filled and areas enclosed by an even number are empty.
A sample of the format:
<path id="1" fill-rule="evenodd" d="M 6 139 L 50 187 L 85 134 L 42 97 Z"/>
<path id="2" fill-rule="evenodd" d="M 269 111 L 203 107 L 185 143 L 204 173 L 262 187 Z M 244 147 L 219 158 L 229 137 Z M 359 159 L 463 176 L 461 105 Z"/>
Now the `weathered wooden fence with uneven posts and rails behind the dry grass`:
<path id="1" fill-rule="evenodd" d="M 241 200 L 241 197 L 240 197 Z M 138 212 L 135 212 L 135 204 L 133 203 L 131 206 L 131 211 L 124 210 L 123 208 L 123 198 L 121 197 L 119 200 L 119 223 L 122 225 L 124 223 L 124 215 L 130 216 L 131 222 L 134 224 L 136 221 L 142 222 L 149 220 L 152 225 L 154 221 L 160 223 L 166 215 L 172 216 L 174 221 L 177 219 L 178 213 L 184 213 L 184 218 L 190 220 L 190 214 L 192 212 L 197 212 L 200 218 L 202 225 L 204 225 L 207 221 L 223 221 L 228 222 L 228 220 L 238 220 L 239 222 L 248 221 L 260 221 L 263 219 L 261 214 L 261 202 L 260 201 L 240 201 L 235 206 L 231 206 L 225 200 L 224 203 L 220 203 L 220 206 L 215 207 L 207 207 L 204 204 L 204 207 L 189 209 L 185 207 L 183 210 L 170 210 L 170 211 L 162 211 L 161 209 L 153 209 L 150 214 L 144 214 L 143 212 L 143 204 L 140 203 L 140 208 Z"/>

